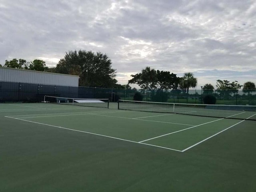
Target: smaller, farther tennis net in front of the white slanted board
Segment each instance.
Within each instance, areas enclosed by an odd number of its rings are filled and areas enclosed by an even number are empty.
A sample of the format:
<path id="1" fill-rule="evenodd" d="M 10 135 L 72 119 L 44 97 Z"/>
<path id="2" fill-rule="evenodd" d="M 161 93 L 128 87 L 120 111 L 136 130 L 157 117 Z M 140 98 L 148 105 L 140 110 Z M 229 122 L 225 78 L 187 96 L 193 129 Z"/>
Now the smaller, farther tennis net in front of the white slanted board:
<path id="1" fill-rule="evenodd" d="M 67 98 L 44 96 L 45 103 L 109 108 L 109 99 Z"/>

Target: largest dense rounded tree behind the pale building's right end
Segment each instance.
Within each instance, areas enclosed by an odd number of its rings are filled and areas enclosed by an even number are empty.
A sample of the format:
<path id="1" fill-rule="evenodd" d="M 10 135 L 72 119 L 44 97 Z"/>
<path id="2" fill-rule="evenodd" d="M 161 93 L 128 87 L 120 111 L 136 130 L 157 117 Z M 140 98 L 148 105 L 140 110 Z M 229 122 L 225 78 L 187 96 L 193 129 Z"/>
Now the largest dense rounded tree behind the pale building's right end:
<path id="1" fill-rule="evenodd" d="M 79 50 L 66 52 L 55 68 L 55 72 L 78 75 L 79 86 L 113 87 L 117 80 L 116 69 L 106 54 Z"/>

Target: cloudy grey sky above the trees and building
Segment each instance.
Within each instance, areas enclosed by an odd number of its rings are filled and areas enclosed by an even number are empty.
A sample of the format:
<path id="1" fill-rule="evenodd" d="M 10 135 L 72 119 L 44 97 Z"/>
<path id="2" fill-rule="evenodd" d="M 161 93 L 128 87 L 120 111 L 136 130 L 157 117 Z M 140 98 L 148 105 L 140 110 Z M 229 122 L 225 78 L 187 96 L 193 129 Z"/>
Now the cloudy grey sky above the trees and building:
<path id="1" fill-rule="evenodd" d="M 0 0 L 0 64 L 102 52 L 118 84 L 149 66 L 256 84 L 256 0 Z M 132 87 L 138 87 L 132 85 Z"/>

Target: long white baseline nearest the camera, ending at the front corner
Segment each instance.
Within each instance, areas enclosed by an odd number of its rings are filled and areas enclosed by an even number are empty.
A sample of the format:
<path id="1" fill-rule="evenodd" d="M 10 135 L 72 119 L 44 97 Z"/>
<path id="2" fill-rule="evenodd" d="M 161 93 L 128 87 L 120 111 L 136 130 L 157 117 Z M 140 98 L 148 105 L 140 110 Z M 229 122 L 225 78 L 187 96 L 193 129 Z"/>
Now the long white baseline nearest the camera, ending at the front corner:
<path id="1" fill-rule="evenodd" d="M 162 147 L 162 146 L 157 146 L 157 145 L 151 145 L 151 144 L 146 144 L 146 143 L 139 143 L 139 142 L 136 142 L 136 141 L 131 141 L 131 140 L 126 140 L 126 139 L 111 137 L 111 136 L 102 135 L 102 134 L 97 134 L 97 133 L 91 133 L 91 132 L 86 132 L 86 131 L 81 131 L 81 130 L 75 130 L 75 129 L 70 129 L 70 128 L 64 128 L 64 127 L 60 127 L 60 126 L 49 125 L 49 124 L 44 124 L 44 123 L 39 123 L 39 122 L 34 122 L 34 121 L 28 121 L 28 120 L 24 120 L 24 119 L 18 119 L 18 118 L 14 118 L 14 117 L 9 117 L 9 116 L 4 116 L 4 117 L 16 119 L 16 120 L 21 120 L 21 121 L 26 121 L 26 122 L 31 122 L 31 123 L 36 123 L 36 124 L 40 124 L 40 125 L 46 125 L 46 126 L 51 126 L 51 127 L 57 127 L 57 128 L 61 128 L 61 129 L 70 130 L 70 131 L 82 132 L 82 133 L 87 133 L 87 134 L 92 134 L 92 135 L 97 135 L 97 136 L 102 136 L 102 137 L 108 137 L 108 138 L 112 138 L 112 139 L 117 139 L 117 140 L 122 140 L 122 141 L 137 143 L 137 144 L 144 144 L 144 145 L 148 145 L 148 146 L 154 146 L 154 147 L 158 147 L 158 148 L 164 148 L 164 149 L 168 149 L 168 150 L 173 150 L 173 151 L 182 152 L 181 150 L 176 150 L 176 149 L 172 149 L 172 148 L 167 148 L 167 147 Z"/>

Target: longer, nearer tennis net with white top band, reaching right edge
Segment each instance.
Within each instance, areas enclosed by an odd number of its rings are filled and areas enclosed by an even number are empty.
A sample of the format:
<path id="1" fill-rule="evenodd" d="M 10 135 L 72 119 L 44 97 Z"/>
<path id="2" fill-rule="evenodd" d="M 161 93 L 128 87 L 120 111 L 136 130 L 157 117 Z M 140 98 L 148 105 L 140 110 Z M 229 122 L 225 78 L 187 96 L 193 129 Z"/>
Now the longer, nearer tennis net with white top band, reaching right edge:
<path id="1" fill-rule="evenodd" d="M 118 109 L 256 120 L 256 106 L 249 105 L 207 105 L 119 100 Z"/>

